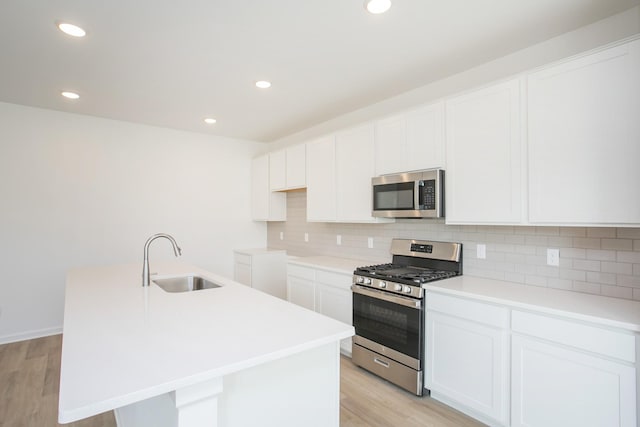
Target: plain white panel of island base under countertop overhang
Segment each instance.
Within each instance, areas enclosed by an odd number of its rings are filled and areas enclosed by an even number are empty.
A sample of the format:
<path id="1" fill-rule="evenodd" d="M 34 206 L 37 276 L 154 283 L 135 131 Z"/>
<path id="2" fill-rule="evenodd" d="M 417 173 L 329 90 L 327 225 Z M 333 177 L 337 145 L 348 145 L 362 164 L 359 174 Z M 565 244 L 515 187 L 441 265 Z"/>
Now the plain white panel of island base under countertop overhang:
<path id="1" fill-rule="evenodd" d="M 338 427 L 339 342 L 224 378 L 219 426 Z"/>

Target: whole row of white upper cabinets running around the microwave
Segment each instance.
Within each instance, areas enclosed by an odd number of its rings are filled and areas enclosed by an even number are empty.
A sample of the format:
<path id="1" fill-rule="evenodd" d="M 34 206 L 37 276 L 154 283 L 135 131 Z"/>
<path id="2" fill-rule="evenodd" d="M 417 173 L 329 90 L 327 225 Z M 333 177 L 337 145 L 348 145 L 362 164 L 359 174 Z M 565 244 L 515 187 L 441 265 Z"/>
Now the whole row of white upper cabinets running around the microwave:
<path id="1" fill-rule="evenodd" d="M 267 188 L 371 222 L 372 177 L 444 167 L 449 224 L 638 226 L 638 75 L 640 40 L 570 58 L 272 153 Z"/>

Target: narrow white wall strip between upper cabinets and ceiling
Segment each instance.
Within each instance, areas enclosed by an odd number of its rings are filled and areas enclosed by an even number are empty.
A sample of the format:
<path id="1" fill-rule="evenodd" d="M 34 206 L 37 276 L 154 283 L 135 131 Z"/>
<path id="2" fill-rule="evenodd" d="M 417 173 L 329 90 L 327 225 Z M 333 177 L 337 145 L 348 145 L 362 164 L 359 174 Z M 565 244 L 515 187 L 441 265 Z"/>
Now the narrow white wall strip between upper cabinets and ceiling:
<path id="1" fill-rule="evenodd" d="M 336 130 L 428 104 L 454 93 L 473 89 L 638 33 L 640 33 L 640 6 L 312 126 L 275 141 L 270 144 L 270 148 L 276 149 L 299 142 L 307 142 Z M 446 40 L 438 40 L 438 42 L 446 43 Z"/>

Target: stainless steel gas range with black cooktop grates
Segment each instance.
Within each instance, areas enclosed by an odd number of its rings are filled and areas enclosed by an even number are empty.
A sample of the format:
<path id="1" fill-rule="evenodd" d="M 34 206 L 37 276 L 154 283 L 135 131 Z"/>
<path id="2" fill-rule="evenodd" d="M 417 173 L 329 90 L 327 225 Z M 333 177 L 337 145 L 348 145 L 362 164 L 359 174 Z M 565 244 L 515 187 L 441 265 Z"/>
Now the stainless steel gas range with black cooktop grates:
<path id="1" fill-rule="evenodd" d="M 352 360 L 422 396 L 423 283 L 462 274 L 462 244 L 393 239 L 389 264 L 354 271 Z"/>

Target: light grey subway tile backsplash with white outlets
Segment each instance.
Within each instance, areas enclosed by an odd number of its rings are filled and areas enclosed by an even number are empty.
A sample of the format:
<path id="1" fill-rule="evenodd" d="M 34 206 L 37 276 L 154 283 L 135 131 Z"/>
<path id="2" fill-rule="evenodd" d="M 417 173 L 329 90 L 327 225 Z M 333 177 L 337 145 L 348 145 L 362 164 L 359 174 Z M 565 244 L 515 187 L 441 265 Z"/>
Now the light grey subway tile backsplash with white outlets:
<path id="1" fill-rule="evenodd" d="M 304 233 L 309 233 L 308 243 Z M 367 248 L 368 237 L 374 238 L 373 249 Z M 462 242 L 465 275 L 640 300 L 640 228 L 446 225 L 444 220 L 406 219 L 307 223 L 304 191 L 287 193 L 287 221 L 267 226 L 269 247 L 298 256 L 360 259 L 363 265 L 390 261 L 393 238 Z M 476 259 L 478 243 L 487 245 L 487 259 Z M 560 249 L 558 267 L 547 266 L 548 248 Z"/>

